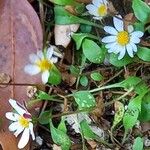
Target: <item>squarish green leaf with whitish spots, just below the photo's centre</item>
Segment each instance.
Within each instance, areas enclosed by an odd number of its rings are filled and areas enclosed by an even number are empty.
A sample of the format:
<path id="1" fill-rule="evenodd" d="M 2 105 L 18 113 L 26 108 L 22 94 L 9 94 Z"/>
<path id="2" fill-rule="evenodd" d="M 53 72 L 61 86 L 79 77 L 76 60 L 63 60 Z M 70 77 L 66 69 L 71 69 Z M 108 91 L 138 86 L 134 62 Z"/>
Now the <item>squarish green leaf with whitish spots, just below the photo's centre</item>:
<path id="1" fill-rule="evenodd" d="M 79 91 L 73 93 L 73 97 L 75 98 L 75 101 L 78 104 L 80 110 L 82 110 L 83 108 L 96 106 L 95 98 L 89 91 Z"/>

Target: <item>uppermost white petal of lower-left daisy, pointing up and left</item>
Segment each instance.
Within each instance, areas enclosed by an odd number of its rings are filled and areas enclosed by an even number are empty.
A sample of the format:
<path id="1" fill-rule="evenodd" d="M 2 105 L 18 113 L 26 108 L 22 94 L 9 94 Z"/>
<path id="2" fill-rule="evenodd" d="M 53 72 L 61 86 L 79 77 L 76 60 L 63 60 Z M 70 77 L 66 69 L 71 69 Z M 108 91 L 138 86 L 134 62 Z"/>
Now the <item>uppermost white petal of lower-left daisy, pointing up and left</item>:
<path id="1" fill-rule="evenodd" d="M 27 112 L 25 108 L 21 104 L 17 103 L 15 100 L 9 99 L 9 103 L 20 115 L 23 115 Z"/>

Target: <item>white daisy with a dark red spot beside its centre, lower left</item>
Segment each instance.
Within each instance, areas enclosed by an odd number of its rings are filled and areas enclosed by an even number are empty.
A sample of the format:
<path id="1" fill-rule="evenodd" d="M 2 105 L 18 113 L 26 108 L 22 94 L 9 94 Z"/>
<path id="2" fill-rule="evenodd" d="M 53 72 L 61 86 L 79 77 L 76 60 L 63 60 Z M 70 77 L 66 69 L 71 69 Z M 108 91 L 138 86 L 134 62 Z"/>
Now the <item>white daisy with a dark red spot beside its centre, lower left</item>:
<path id="1" fill-rule="evenodd" d="M 7 112 L 5 116 L 7 119 L 12 121 L 9 126 L 9 130 L 13 131 L 16 137 L 23 132 L 18 143 L 18 148 L 22 149 L 29 142 L 30 134 L 32 139 L 35 140 L 33 124 L 31 122 L 31 114 L 26 110 L 26 108 L 17 103 L 15 100 L 10 99 L 9 103 L 15 109 L 16 113 Z"/>

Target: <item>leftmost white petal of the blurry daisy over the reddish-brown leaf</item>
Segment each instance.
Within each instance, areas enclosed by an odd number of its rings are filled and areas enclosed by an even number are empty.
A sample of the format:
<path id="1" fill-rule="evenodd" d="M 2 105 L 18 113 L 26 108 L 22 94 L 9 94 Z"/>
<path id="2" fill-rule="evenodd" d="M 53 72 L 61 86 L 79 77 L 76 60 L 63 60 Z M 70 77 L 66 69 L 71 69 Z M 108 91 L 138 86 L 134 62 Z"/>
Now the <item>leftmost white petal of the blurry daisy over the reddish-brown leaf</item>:
<path id="1" fill-rule="evenodd" d="M 29 75 L 36 75 L 41 71 L 37 65 L 28 64 L 24 67 L 24 72 Z"/>

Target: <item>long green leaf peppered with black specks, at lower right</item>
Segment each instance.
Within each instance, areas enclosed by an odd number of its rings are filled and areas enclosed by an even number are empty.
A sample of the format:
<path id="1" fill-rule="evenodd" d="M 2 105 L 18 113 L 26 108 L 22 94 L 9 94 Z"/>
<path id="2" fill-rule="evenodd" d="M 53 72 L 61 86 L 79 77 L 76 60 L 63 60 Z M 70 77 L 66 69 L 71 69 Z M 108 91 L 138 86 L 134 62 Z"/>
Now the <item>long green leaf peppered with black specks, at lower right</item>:
<path id="1" fill-rule="evenodd" d="M 123 125 L 126 131 L 132 129 L 132 127 L 136 124 L 139 113 L 141 111 L 141 102 L 144 95 L 145 93 L 130 100 L 128 109 L 123 117 Z"/>

